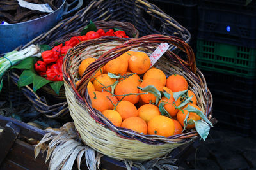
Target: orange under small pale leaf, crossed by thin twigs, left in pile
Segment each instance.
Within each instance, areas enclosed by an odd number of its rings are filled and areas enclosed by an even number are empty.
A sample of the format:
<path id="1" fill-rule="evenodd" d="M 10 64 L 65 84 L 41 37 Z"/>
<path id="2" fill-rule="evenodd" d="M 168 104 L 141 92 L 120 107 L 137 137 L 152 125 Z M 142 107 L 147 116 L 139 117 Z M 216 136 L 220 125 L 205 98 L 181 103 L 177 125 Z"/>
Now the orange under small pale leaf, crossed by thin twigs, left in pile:
<path id="1" fill-rule="evenodd" d="M 97 76 L 97 78 L 93 81 L 93 85 L 95 87 L 95 90 L 102 92 L 106 90 L 106 87 L 109 91 L 111 91 L 110 85 L 113 85 L 115 83 L 115 78 L 110 78 L 108 74 L 102 74 Z"/>

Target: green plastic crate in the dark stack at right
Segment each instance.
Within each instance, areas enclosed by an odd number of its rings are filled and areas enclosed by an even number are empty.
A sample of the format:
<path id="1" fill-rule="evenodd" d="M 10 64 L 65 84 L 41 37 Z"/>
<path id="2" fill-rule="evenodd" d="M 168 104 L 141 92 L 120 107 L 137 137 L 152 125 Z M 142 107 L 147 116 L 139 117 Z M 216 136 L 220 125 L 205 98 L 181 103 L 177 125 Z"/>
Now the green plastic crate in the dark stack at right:
<path id="1" fill-rule="evenodd" d="M 253 78 L 256 76 L 256 48 L 198 39 L 196 65 L 200 69 Z"/>

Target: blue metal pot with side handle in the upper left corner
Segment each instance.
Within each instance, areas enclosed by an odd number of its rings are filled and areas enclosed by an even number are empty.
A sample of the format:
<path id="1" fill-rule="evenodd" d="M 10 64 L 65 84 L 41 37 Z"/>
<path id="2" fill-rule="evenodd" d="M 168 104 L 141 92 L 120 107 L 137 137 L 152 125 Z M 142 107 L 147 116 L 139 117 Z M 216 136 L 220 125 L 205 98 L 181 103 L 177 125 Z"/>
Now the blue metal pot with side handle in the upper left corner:
<path id="1" fill-rule="evenodd" d="M 74 0 L 70 4 L 63 0 L 60 8 L 44 17 L 17 24 L 0 25 L 0 54 L 10 52 L 18 46 L 28 43 L 36 36 L 49 31 L 62 18 L 78 10 L 82 5 L 83 0 Z"/>

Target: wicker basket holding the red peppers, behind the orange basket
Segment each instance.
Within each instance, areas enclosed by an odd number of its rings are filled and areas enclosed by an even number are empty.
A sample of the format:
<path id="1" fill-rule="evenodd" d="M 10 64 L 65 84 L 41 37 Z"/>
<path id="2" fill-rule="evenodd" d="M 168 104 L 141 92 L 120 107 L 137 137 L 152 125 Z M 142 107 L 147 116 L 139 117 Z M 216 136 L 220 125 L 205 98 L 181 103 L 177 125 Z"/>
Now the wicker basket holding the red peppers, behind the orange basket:
<path id="1" fill-rule="evenodd" d="M 135 29 L 134 25 L 129 22 L 118 22 L 118 21 L 96 21 L 94 22 L 97 29 L 104 29 L 108 31 L 109 29 L 117 28 L 122 29 L 127 33 L 129 37 L 138 38 L 139 32 Z M 77 29 L 76 32 L 71 32 L 65 36 L 52 41 L 49 45 L 53 47 L 56 42 L 65 43 L 72 36 L 79 36 L 84 27 Z M 19 77 L 19 76 L 18 76 Z M 13 74 L 11 76 L 17 83 L 17 75 Z M 41 89 L 38 89 L 38 92 L 33 92 L 29 86 L 24 87 L 24 95 L 33 103 L 36 110 L 40 111 L 49 118 L 67 118 L 68 106 L 67 99 L 65 96 L 65 89 L 61 87 L 59 94 L 56 94 L 50 85 L 44 85 Z"/>

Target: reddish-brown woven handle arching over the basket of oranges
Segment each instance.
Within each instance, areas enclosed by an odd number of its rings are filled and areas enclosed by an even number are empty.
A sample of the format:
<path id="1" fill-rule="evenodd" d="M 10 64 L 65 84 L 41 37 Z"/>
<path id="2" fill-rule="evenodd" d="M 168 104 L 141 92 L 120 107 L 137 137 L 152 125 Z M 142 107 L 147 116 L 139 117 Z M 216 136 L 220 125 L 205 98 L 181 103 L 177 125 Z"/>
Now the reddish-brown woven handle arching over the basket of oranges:
<path id="1" fill-rule="evenodd" d="M 102 39 L 104 38 L 102 37 Z M 100 41 L 100 39 L 96 41 Z M 115 39 L 113 39 L 113 41 L 115 41 Z M 119 39 L 119 41 L 124 41 L 124 39 Z M 166 55 L 170 57 L 170 59 L 173 59 L 174 62 L 177 62 L 177 64 L 179 63 L 184 69 L 184 71 L 186 71 L 187 73 L 191 73 L 191 71 L 194 74 L 196 73 L 195 55 L 193 53 L 192 48 L 188 45 L 188 43 L 185 43 L 182 39 L 175 36 L 164 36 L 159 34 L 148 35 L 143 36 L 141 38 L 134 38 L 125 41 L 122 45 L 116 46 L 115 48 L 112 48 L 111 50 L 108 50 L 108 52 L 101 55 L 97 61 L 90 64 L 86 71 L 84 71 L 81 81 L 76 85 L 77 92 L 79 92 L 81 96 L 84 96 L 84 92 L 86 89 L 84 87 L 86 87 L 88 81 L 93 77 L 93 73 L 96 73 L 100 69 L 100 67 L 104 66 L 104 64 L 106 64 L 109 60 L 115 59 L 123 53 L 131 50 L 131 48 L 148 46 L 148 48 L 152 50 L 150 47 L 153 46 L 154 48 L 157 48 L 159 43 L 172 44 L 180 50 L 182 50 L 183 52 L 186 52 L 188 58 L 188 60 L 186 61 L 170 50 L 166 52 Z M 196 76 L 194 77 L 196 78 Z"/>

